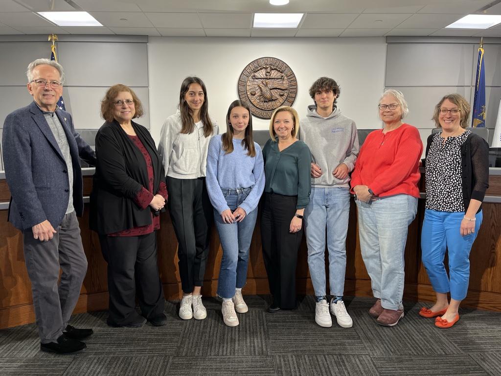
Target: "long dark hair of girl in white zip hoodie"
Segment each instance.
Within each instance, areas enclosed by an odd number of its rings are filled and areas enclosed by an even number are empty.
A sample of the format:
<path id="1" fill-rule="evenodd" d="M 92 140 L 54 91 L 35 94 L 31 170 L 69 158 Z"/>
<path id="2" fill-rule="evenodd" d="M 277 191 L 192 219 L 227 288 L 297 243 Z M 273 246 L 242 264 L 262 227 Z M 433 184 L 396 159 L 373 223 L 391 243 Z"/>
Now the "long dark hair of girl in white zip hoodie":
<path id="1" fill-rule="evenodd" d="M 205 84 L 198 77 L 186 77 L 181 84 L 181 90 L 179 92 L 179 110 L 181 111 L 181 133 L 193 133 L 195 130 L 195 121 L 193 120 L 193 110 L 189 108 L 188 103 L 184 99 L 186 93 L 188 92 L 189 86 L 191 84 L 198 84 L 203 90 L 203 103 L 200 108 L 199 118 L 203 123 L 203 135 L 208 137 L 212 134 L 212 122 L 209 118 L 208 107 L 209 100 L 207 98 L 207 89 L 205 89 Z"/>

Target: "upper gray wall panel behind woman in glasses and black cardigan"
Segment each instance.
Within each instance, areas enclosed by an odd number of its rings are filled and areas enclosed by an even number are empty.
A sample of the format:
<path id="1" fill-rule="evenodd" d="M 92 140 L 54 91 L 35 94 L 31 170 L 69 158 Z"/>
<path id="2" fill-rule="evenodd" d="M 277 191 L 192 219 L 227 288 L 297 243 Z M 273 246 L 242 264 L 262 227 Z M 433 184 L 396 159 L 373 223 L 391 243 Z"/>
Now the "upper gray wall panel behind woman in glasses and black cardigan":
<path id="1" fill-rule="evenodd" d="M 67 86 L 148 86 L 146 43 L 60 42 Z"/>

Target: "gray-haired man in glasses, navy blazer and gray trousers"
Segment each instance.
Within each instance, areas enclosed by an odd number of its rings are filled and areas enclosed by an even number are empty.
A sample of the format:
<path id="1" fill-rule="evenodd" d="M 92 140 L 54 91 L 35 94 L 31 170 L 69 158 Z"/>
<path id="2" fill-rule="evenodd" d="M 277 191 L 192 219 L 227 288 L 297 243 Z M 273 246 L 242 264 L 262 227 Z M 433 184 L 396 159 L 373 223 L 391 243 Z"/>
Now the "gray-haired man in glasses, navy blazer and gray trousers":
<path id="1" fill-rule="evenodd" d="M 23 232 L 40 348 L 73 353 L 83 350 L 80 340 L 92 334 L 68 325 L 87 271 L 77 221 L 84 208 L 79 158 L 95 165 L 96 157 L 71 115 L 57 107 L 63 67 L 37 59 L 27 76 L 33 102 L 9 114 L 4 124 L 9 221 Z"/>

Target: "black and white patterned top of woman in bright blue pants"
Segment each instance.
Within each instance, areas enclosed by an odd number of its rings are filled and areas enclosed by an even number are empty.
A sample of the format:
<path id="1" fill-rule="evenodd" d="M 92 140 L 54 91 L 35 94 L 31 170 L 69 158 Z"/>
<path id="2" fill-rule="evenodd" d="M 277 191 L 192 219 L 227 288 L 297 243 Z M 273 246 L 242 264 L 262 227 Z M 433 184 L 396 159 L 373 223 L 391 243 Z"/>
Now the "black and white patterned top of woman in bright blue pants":
<path id="1" fill-rule="evenodd" d="M 435 133 L 426 156 L 426 209 L 439 212 L 464 212 L 461 185 L 461 145 L 471 131 L 447 137 Z"/>

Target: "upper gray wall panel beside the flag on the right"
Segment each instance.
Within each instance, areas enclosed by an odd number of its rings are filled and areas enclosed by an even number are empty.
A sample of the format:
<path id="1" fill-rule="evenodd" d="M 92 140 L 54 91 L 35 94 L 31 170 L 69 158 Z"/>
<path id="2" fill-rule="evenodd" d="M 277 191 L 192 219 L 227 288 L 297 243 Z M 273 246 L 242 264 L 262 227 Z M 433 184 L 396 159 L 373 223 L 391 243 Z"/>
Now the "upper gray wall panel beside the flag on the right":
<path id="1" fill-rule="evenodd" d="M 472 44 L 389 44 L 386 86 L 469 86 Z"/>

